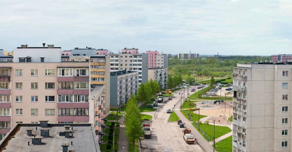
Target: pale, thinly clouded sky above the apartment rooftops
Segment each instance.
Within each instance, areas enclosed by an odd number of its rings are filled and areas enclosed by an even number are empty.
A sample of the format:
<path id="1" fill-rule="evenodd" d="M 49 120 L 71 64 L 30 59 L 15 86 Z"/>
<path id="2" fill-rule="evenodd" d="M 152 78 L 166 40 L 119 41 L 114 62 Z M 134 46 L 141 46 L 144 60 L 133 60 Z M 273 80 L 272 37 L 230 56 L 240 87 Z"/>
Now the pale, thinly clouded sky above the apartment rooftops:
<path id="1" fill-rule="evenodd" d="M 0 49 L 292 54 L 292 0 L 0 0 Z"/>

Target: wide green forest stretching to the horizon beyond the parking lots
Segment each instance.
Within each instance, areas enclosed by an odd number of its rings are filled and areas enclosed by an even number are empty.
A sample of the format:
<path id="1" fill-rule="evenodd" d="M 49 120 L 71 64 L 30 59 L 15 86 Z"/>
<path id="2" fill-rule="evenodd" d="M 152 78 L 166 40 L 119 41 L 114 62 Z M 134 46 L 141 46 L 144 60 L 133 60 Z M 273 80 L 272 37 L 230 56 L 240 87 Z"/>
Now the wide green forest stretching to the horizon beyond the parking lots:
<path id="1" fill-rule="evenodd" d="M 192 76 L 231 76 L 237 63 L 254 63 L 270 61 L 271 57 L 262 56 L 229 56 L 229 57 L 199 57 L 189 60 L 178 59 L 177 56 L 168 59 L 168 74 Z"/>

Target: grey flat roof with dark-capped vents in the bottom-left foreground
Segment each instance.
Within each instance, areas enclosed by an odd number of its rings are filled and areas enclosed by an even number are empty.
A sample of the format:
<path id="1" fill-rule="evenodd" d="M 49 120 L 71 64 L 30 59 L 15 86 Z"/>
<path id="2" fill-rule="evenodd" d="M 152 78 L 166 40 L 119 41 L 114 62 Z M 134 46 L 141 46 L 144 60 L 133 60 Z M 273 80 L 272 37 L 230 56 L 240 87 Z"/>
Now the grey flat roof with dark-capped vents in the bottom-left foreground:
<path id="1" fill-rule="evenodd" d="M 65 131 L 64 126 L 68 124 L 48 125 L 48 128 L 41 128 L 39 124 L 18 124 L 0 142 L 0 148 L 4 148 L 0 152 L 62 152 L 63 143 L 70 143 L 68 150 L 72 152 L 100 152 L 91 124 L 70 124 L 73 127 L 73 133 L 70 133 L 73 134 L 73 138 L 59 136 L 60 132 Z M 40 136 L 40 129 L 51 129 L 50 137 L 42 137 L 43 144 L 33 145 L 31 139 L 33 136 L 27 135 L 28 129 L 33 129 L 32 133 L 36 137 Z"/>

